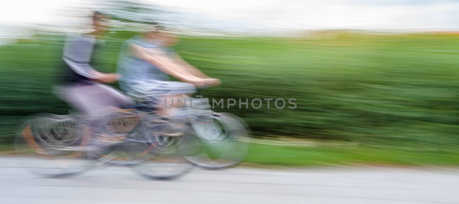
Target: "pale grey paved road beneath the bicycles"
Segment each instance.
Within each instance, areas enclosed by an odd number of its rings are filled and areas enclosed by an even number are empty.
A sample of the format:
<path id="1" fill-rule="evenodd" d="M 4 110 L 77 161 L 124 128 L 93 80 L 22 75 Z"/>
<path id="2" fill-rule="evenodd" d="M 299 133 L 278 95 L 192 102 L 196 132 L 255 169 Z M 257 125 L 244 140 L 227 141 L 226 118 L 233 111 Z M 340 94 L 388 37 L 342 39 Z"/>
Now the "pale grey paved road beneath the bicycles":
<path id="1" fill-rule="evenodd" d="M 0 204 L 459 203 L 459 170 L 407 168 L 194 169 L 174 181 L 107 167 L 40 178 L 0 158 Z"/>

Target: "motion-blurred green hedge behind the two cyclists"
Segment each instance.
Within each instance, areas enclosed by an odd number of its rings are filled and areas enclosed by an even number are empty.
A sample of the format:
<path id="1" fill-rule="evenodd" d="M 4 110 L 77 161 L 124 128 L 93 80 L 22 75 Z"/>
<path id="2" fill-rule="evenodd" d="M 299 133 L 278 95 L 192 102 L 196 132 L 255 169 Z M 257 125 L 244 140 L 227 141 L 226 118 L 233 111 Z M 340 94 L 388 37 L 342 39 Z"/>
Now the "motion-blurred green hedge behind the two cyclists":
<path id="1" fill-rule="evenodd" d="M 102 72 L 123 41 L 111 32 Z M 35 112 L 66 114 L 52 93 L 62 39 L 37 36 L 0 47 L 0 141 Z M 459 37 L 335 33 L 317 38 L 182 37 L 176 50 L 222 86 L 197 95 L 295 98 L 296 109 L 215 108 L 246 120 L 255 135 L 354 141 L 392 147 L 459 145 Z M 256 104 L 257 105 L 257 104 Z M 226 106 L 226 101 L 225 101 Z M 288 104 L 287 104 L 288 106 Z"/>

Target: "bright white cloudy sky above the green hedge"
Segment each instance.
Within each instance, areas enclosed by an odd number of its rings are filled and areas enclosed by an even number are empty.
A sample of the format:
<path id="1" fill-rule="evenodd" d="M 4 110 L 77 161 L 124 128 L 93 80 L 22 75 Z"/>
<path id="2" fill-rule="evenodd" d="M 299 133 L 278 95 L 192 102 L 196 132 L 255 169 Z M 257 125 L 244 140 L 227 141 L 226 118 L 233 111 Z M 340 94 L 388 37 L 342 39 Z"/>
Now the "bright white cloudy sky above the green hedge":
<path id="1" fill-rule="evenodd" d="M 455 0 L 141 0 L 213 22 L 287 29 L 459 30 Z M 57 24 L 63 8 L 96 0 L 3 0 L 0 23 Z"/>

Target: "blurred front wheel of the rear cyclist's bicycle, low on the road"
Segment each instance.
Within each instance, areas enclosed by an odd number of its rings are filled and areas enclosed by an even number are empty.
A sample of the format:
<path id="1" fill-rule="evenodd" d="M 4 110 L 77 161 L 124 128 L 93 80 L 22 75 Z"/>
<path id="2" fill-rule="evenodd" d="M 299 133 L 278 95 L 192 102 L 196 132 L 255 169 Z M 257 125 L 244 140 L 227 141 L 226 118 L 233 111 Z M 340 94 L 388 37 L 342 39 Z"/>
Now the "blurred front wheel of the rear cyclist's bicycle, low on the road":
<path id="1" fill-rule="evenodd" d="M 152 179 L 174 179 L 190 170 L 184 158 L 187 139 L 183 137 L 185 124 L 171 119 L 152 117 L 142 126 L 143 142 L 132 143 L 129 154 L 142 162 L 133 165 L 141 175 Z"/>

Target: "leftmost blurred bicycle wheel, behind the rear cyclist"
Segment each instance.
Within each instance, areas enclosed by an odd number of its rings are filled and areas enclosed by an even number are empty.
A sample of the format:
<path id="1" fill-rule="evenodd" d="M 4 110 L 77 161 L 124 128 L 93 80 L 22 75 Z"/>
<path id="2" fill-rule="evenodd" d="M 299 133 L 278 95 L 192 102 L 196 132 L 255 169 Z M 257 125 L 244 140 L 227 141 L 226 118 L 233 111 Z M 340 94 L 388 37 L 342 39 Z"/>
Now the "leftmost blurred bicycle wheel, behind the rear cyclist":
<path id="1" fill-rule="evenodd" d="M 17 160 L 41 176 L 68 176 L 90 168 L 84 152 L 66 150 L 83 143 L 83 128 L 72 116 L 31 117 L 15 138 Z"/>

